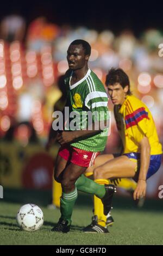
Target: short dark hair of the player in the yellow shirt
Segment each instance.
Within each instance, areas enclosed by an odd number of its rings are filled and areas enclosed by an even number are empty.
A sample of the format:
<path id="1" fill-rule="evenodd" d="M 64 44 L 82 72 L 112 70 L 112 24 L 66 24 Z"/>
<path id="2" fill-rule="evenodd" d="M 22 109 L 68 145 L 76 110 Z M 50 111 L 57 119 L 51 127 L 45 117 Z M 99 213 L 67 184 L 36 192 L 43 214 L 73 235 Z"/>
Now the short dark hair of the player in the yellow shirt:
<path id="1" fill-rule="evenodd" d="M 122 70 L 122 69 L 114 69 L 111 68 L 108 72 L 108 75 L 106 75 L 106 86 L 114 85 L 116 83 L 120 83 L 122 88 L 128 86 L 128 95 L 131 95 L 130 92 L 130 81 L 128 75 Z"/>

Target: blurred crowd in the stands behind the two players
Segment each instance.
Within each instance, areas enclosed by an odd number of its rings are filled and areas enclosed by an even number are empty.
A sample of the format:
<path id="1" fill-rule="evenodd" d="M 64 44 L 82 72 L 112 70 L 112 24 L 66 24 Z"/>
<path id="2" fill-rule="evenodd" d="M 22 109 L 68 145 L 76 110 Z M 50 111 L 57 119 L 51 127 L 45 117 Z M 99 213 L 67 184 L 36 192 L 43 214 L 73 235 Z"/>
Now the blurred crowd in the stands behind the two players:
<path id="1" fill-rule="evenodd" d="M 163 57 L 158 54 L 163 34 L 159 30 L 148 29 L 136 38 L 132 31 L 118 35 L 96 31 L 96 24 L 95 29 L 59 27 L 46 17 L 37 17 L 27 27 L 18 15 L 1 21 L 0 138 L 13 124 L 27 121 L 45 143 L 54 103 L 61 96 L 57 81 L 68 68 L 66 52 L 75 39 L 91 44 L 89 66 L 103 83 L 111 67 L 127 72 L 131 90 L 151 110 L 163 143 Z M 111 121 L 114 127 L 114 118 Z M 24 143 L 28 143 L 28 129 L 20 131 L 17 138 L 24 133 Z M 117 143 L 115 129 L 111 135 L 108 151 Z"/>

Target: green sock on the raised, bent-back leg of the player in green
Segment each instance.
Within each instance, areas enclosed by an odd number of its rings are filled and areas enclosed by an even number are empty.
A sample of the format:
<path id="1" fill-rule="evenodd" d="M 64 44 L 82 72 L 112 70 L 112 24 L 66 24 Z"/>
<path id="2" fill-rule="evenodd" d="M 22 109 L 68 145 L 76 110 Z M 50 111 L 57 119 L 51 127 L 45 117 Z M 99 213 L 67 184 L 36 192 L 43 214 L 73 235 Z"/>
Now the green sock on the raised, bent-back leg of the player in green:
<path id="1" fill-rule="evenodd" d="M 77 179 L 76 186 L 79 191 L 95 194 L 98 198 L 103 198 L 105 195 L 105 186 L 86 178 L 84 174 Z"/>

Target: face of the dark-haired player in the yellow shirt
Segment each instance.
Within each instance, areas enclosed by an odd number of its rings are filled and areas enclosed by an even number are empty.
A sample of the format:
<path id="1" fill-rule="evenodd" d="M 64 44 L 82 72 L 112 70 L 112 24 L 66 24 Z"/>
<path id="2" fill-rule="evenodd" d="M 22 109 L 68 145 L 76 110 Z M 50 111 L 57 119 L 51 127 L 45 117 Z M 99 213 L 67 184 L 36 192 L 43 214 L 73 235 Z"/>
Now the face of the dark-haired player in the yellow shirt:
<path id="1" fill-rule="evenodd" d="M 111 97 L 111 101 L 114 105 L 122 105 L 126 99 L 126 93 L 128 91 L 128 86 L 122 88 L 120 83 L 107 86 L 108 92 Z"/>

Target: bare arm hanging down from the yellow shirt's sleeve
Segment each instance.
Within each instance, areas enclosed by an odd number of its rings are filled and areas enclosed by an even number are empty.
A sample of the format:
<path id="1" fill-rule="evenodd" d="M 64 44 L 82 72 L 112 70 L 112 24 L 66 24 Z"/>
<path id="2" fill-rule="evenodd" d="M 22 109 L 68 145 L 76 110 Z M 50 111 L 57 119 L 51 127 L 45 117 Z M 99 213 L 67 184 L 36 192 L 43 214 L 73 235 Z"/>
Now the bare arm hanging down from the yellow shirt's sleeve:
<path id="1" fill-rule="evenodd" d="M 140 173 L 137 181 L 137 187 L 134 191 L 134 200 L 144 197 L 146 195 L 146 176 L 149 168 L 151 155 L 151 147 L 149 140 L 144 136 L 140 142 Z"/>

